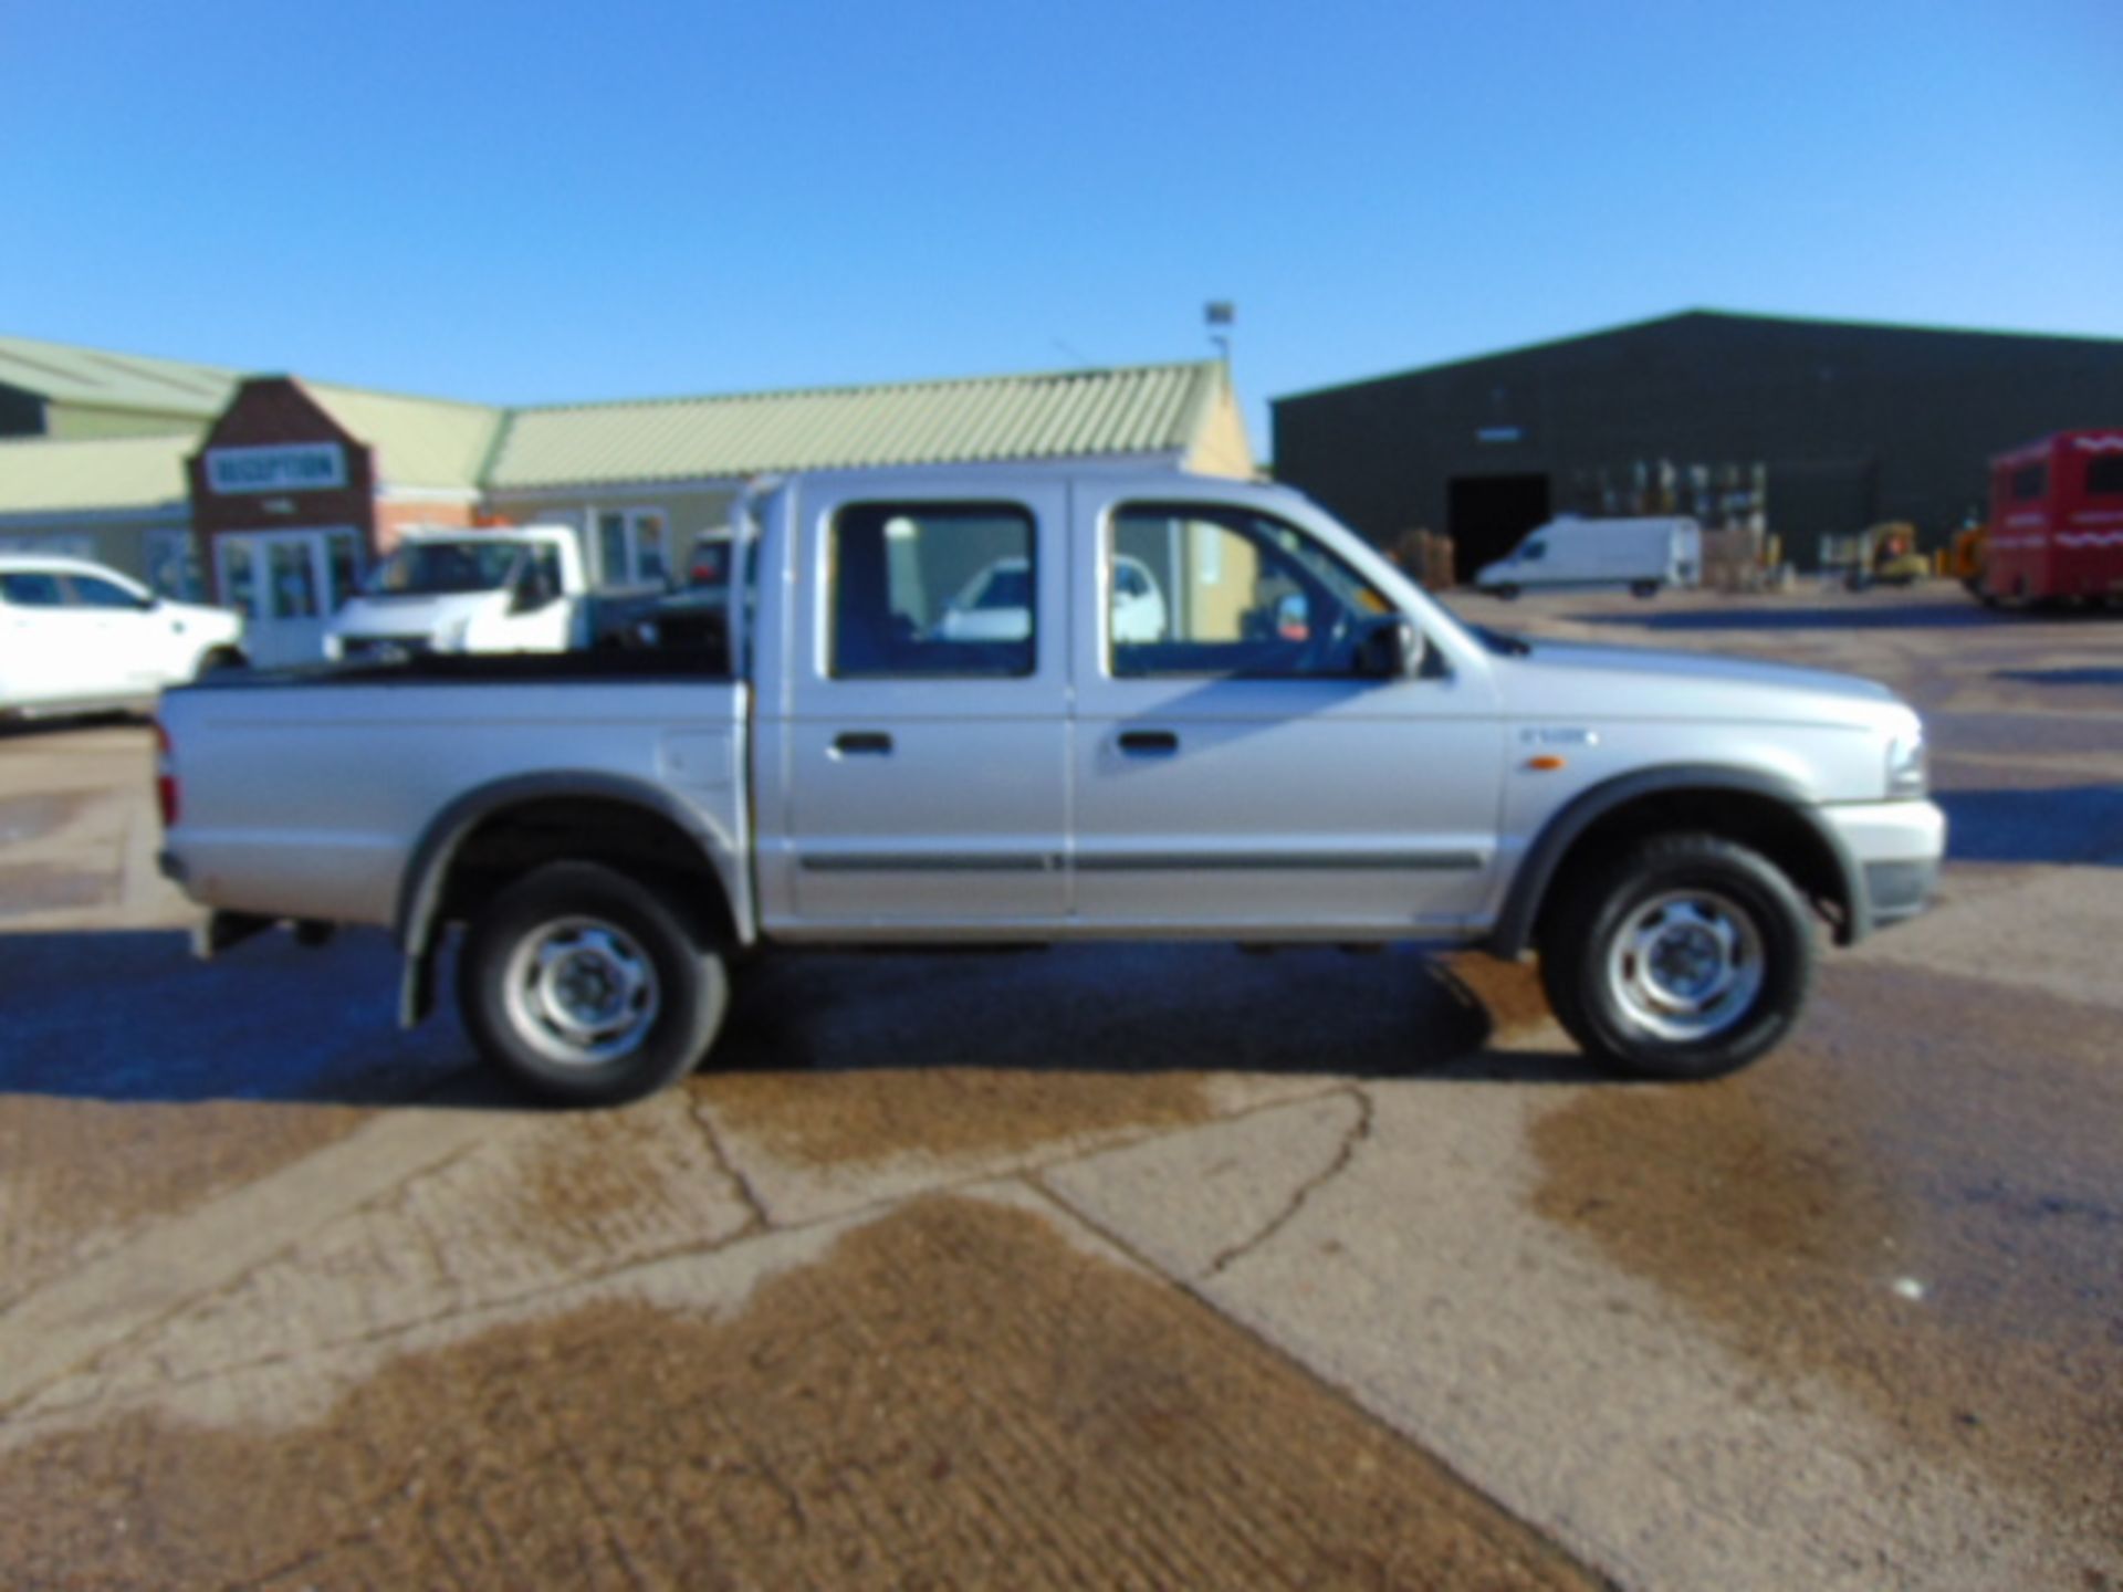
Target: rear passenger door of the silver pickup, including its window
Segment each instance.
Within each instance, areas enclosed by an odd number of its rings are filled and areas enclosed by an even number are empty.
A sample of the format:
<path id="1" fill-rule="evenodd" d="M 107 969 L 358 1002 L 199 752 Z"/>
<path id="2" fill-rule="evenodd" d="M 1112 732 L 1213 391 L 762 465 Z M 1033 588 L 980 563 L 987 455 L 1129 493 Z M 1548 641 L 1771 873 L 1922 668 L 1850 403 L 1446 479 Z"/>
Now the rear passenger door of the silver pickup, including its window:
<path id="1" fill-rule="evenodd" d="M 1059 925 L 1068 911 L 1062 484 L 809 495 L 779 700 L 760 705 L 760 892 L 805 930 Z M 766 788 L 773 790 L 773 788 Z"/>

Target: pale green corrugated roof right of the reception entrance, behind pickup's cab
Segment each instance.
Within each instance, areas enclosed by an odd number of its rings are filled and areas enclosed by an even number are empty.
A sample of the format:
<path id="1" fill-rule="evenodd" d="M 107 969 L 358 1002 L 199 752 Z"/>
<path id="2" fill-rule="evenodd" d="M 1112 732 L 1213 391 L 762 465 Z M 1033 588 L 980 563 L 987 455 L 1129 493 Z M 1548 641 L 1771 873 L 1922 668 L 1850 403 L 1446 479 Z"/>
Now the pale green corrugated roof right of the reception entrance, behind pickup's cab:
<path id="1" fill-rule="evenodd" d="M 1178 452 L 1223 382 L 1197 361 L 514 410 L 486 486 Z"/>

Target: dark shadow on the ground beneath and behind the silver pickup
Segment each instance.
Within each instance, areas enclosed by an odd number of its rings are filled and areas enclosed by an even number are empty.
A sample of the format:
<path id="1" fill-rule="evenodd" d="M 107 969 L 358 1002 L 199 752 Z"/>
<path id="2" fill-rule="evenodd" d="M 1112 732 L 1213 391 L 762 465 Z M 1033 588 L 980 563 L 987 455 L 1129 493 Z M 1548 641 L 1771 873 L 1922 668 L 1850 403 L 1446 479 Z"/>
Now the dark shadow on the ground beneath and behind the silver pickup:
<path id="1" fill-rule="evenodd" d="M 0 936 L 0 1095 L 522 1108 L 448 1002 L 397 1027 L 397 968 L 382 934 L 267 936 L 212 964 L 176 932 Z M 1573 1053 L 1488 1049 L 1541 1010 L 1524 970 L 1478 989 L 1401 949 L 790 955 L 737 989 L 709 1072 L 1601 1076 Z"/>

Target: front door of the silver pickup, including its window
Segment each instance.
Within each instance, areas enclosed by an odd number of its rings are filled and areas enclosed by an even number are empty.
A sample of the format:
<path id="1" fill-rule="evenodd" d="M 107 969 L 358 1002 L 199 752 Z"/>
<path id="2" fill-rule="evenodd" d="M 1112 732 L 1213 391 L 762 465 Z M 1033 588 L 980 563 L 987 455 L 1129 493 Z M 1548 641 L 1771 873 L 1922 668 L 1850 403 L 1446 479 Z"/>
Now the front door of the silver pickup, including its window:
<path id="1" fill-rule="evenodd" d="M 1083 488 L 1078 488 L 1083 490 Z M 1388 601 L 1293 520 L 1076 505 L 1074 892 L 1098 932 L 1450 934 L 1495 872 L 1486 673 L 1357 671 Z"/>

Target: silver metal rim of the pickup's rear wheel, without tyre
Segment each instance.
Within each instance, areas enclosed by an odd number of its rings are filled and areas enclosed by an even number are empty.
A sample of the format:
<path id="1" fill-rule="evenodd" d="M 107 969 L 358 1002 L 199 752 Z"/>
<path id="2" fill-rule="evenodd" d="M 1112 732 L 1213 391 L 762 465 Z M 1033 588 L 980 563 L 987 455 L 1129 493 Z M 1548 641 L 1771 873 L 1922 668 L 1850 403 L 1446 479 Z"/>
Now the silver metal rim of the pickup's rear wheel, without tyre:
<path id="1" fill-rule="evenodd" d="M 633 934 L 601 917 L 558 917 L 527 934 L 503 976 L 510 1027 L 567 1068 L 614 1061 L 662 1010 L 656 964 Z"/>

